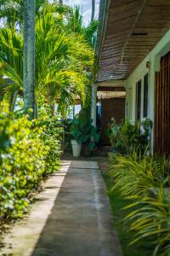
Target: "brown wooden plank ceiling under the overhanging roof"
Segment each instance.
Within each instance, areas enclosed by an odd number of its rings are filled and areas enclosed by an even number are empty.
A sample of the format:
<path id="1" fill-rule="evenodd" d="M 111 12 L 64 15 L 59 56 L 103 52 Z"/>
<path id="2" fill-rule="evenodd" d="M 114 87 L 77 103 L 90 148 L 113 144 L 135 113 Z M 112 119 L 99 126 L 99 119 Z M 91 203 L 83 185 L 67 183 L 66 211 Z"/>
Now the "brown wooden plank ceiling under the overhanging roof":
<path id="1" fill-rule="evenodd" d="M 103 22 L 96 82 L 127 79 L 170 28 L 170 0 L 110 0 Z"/>

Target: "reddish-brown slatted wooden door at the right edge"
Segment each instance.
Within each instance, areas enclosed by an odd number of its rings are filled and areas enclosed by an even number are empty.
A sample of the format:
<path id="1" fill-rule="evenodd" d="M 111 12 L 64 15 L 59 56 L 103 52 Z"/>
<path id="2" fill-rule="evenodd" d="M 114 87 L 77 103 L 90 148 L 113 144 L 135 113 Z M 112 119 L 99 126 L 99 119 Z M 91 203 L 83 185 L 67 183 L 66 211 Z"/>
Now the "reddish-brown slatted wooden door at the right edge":
<path id="1" fill-rule="evenodd" d="M 170 154 L 170 52 L 161 57 L 156 73 L 154 148 L 160 154 Z"/>

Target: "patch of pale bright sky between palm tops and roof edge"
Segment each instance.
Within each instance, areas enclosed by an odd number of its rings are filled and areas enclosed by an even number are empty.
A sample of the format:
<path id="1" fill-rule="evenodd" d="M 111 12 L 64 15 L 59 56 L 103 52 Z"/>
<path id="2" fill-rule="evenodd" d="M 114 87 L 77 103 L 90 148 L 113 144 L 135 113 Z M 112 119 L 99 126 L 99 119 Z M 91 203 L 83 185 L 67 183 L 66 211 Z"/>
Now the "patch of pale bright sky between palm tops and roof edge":
<path id="1" fill-rule="evenodd" d="M 82 15 L 84 24 L 88 25 L 92 14 L 92 1 L 91 0 L 64 0 L 63 3 L 67 3 L 71 6 L 79 5 L 82 9 Z M 98 19 L 99 15 L 99 0 L 95 0 L 95 18 Z"/>

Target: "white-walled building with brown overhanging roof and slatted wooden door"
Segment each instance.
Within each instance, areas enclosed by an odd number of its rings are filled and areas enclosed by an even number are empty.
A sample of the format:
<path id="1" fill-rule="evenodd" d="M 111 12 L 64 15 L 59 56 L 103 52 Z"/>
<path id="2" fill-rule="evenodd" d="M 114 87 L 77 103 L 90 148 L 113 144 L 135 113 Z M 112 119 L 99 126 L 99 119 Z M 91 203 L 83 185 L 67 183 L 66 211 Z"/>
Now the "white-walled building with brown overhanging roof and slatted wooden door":
<path id="1" fill-rule="evenodd" d="M 170 1 L 101 0 L 96 61 L 92 118 L 100 87 L 124 88 L 125 118 L 150 118 L 152 149 L 170 154 Z"/>

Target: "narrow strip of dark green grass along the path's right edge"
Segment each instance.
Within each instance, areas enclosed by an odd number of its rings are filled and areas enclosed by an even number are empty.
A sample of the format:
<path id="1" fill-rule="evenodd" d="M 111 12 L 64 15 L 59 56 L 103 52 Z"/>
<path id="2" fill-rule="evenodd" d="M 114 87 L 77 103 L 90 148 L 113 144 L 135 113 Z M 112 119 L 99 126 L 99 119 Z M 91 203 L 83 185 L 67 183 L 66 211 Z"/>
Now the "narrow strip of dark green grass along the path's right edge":
<path id="1" fill-rule="evenodd" d="M 129 213 L 129 210 L 123 210 L 129 201 L 122 198 L 118 191 L 111 192 L 111 182 L 108 173 L 104 172 L 103 177 L 106 187 L 108 189 L 108 196 L 111 204 L 111 211 L 113 215 L 113 226 L 117 231 L 119 241 L 122 247 L 123 256 L 148 256 L 152 255 L 150 252 L 150 245 L 145 241 L 139 241 L 136 244 L 129 245 L 133 240 L 133 232 L 130 231 L 130 223 L 124 222 L 124 218 Z"/>

